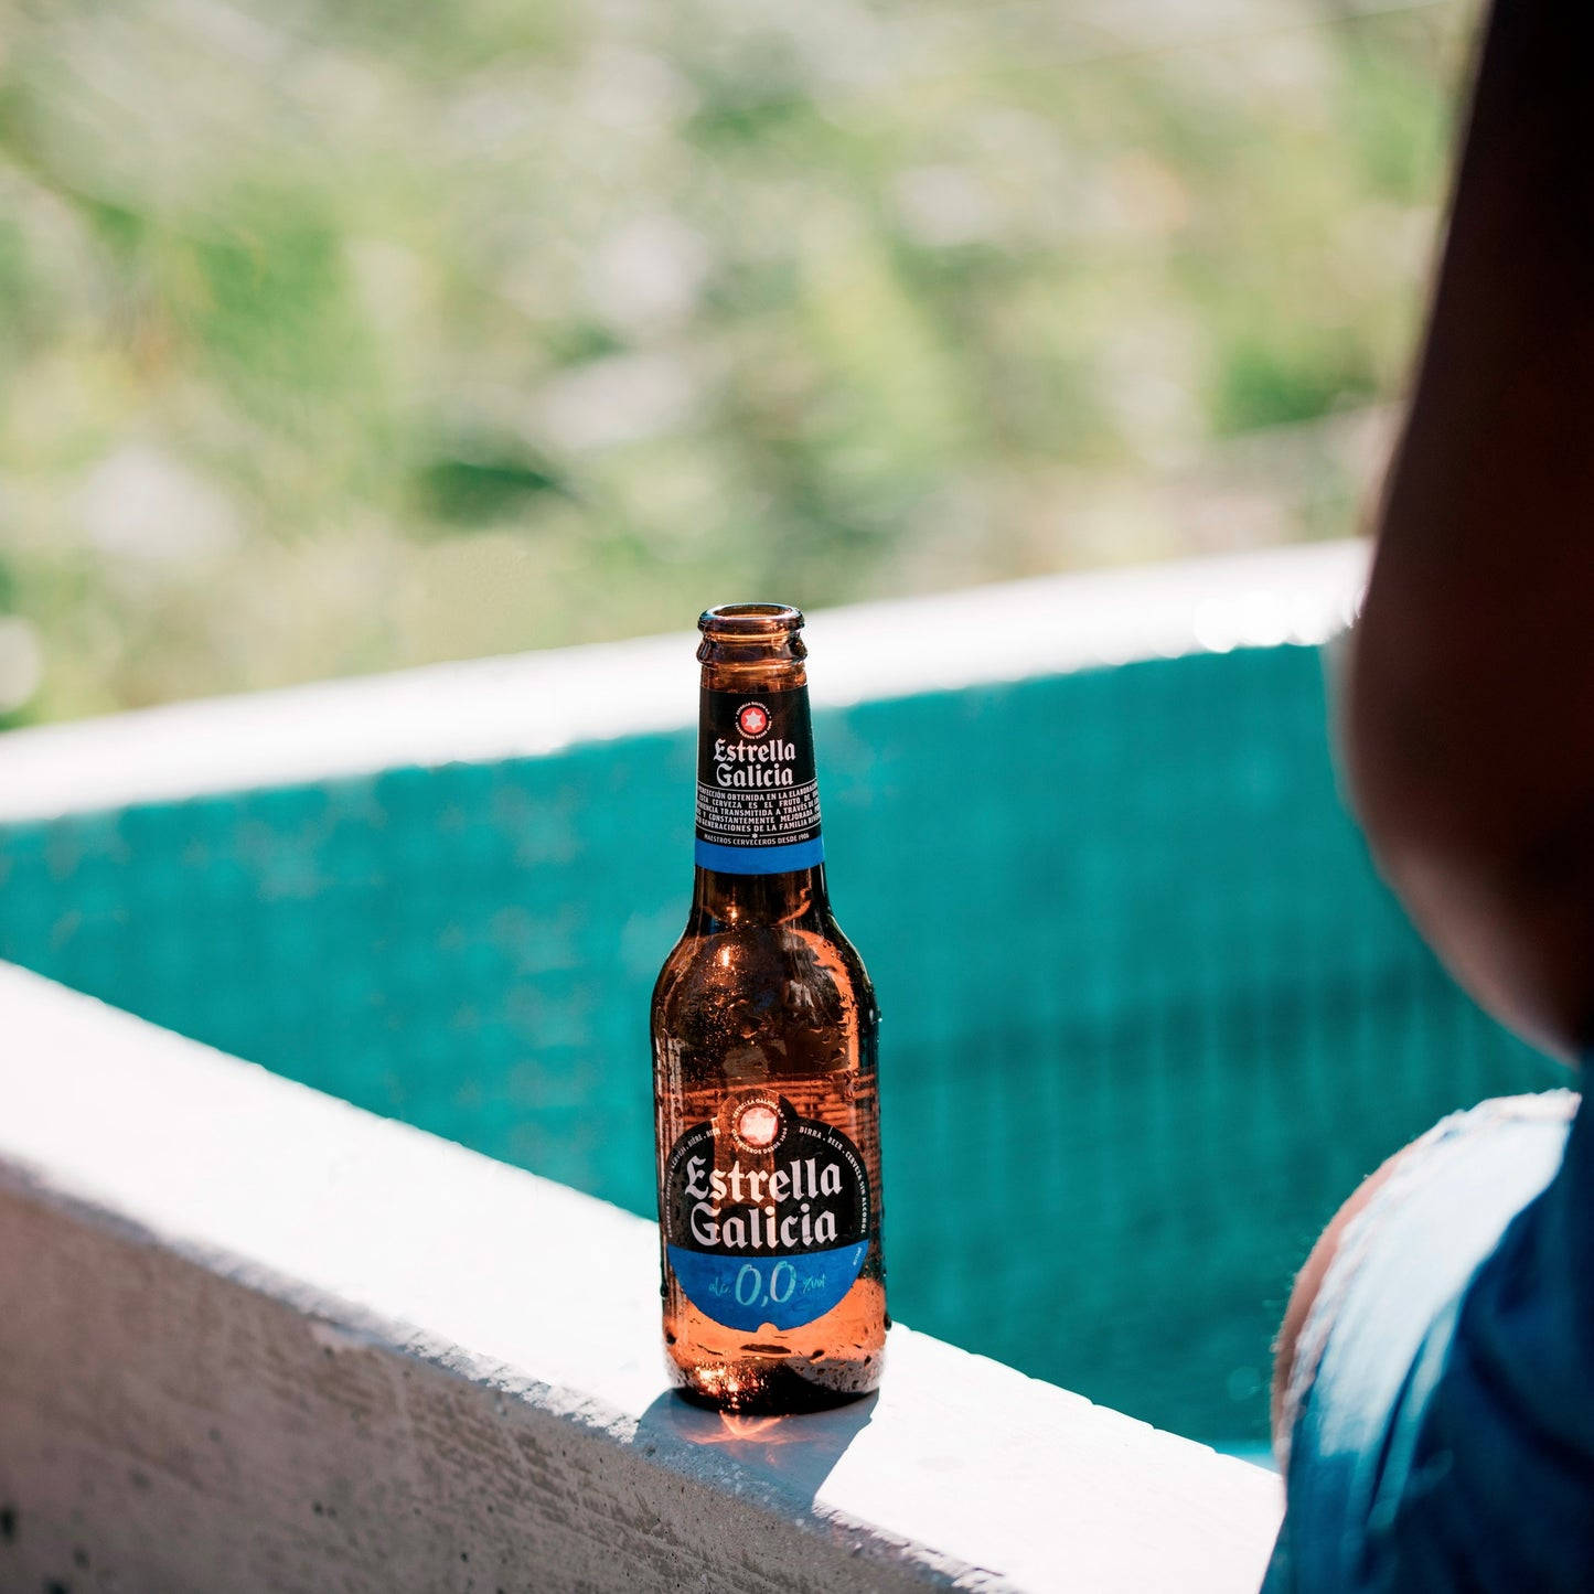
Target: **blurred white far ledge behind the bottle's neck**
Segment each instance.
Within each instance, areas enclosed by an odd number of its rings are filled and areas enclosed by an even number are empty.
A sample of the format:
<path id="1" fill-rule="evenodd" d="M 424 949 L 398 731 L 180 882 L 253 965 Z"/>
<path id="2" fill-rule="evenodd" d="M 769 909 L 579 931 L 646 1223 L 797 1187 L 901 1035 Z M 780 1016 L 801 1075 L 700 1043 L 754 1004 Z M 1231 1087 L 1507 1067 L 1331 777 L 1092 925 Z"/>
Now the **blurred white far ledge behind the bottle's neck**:
<path id="1" fill-rule="evenodd" d="M 1366 564 L 1366 544 L 1320 542 L 827 609 L 808 622 L 813 700 L 1321 642 L 1349 623 Z M 0 821 L 676 730 L 697 716 L 695 647 L 650 636 L 10 732 Z"/>

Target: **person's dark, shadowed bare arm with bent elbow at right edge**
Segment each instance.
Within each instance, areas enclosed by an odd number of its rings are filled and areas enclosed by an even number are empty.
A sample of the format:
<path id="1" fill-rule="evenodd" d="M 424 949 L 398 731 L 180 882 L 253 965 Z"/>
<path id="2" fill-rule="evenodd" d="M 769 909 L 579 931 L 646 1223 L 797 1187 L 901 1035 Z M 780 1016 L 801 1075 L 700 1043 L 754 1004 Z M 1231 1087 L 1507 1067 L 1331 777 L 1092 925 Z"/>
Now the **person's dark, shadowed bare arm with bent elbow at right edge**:
<path id="1" fill-rule="evenodd" d="M 1594 13 L 1498 0 L 1353 642 L 1350 784 L 1457 979 L 1594 1042 Z"/>

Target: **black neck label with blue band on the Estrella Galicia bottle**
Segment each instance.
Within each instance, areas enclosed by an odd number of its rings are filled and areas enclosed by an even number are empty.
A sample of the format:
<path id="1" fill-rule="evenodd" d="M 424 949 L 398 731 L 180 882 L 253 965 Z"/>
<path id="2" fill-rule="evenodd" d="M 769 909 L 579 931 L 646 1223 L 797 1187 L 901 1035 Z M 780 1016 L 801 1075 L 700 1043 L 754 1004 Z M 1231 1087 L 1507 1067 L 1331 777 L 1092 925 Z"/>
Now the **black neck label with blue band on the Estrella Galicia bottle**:
<path id="1" fill-rule="evenodd" d="M 701 695 L 697 862 L 778 875 L 824 862 L 808 689 Z"/>

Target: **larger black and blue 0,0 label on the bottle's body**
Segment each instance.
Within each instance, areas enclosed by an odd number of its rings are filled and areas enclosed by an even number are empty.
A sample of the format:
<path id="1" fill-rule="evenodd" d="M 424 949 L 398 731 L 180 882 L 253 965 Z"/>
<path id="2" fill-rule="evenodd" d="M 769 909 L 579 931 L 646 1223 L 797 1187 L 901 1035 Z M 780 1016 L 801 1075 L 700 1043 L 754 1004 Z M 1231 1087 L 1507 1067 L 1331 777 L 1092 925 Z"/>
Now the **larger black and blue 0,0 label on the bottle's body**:
<path id="1" fill-rule="evenodd" d="M 875 1208 L 858 1146 L 767 1090 L 728 1097 L 665 1162 L 665 1254 L 727 1328 L 799 1328 L 851 1290 Z"/>

